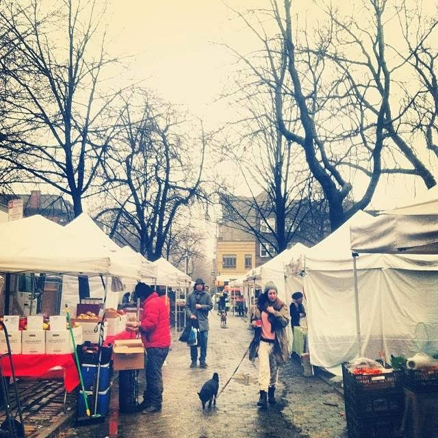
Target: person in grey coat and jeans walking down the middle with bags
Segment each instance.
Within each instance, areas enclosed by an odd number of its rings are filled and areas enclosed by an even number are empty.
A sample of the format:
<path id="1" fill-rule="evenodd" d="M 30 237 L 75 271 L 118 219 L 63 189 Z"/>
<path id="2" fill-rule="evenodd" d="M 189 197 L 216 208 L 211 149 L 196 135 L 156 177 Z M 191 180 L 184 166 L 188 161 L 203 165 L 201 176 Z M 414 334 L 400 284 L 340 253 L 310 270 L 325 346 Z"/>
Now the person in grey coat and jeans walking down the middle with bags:
<path id="1" fill-rule="evenodd" d="M 198 329 L 198 346 L 201 349 L 199 357 L 200 368 L 207 368 L 207 344 L 208 344 L 208 314 L 213 309 L 210 294 L 205 292 L 203 279 L 196 279 L 193 292 L 189 294 L 185 302 L 185 314 L 192 322 L 192 326 Z M 198 346 L 190 346 L 190 368 L 196 368 L 198 363 Z"/>

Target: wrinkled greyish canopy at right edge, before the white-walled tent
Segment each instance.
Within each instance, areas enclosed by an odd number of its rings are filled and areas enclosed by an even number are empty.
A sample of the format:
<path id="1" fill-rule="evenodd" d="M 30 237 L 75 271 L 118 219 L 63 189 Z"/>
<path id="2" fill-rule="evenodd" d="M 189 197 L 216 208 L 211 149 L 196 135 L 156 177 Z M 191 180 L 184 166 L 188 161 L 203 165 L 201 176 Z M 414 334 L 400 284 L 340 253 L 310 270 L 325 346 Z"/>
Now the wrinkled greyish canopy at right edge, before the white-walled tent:
<path id="1" fill-rule="evenodd" d="M 355 253 L 438 254 L 438 185 L 412 203 L 351 227 Z"/>

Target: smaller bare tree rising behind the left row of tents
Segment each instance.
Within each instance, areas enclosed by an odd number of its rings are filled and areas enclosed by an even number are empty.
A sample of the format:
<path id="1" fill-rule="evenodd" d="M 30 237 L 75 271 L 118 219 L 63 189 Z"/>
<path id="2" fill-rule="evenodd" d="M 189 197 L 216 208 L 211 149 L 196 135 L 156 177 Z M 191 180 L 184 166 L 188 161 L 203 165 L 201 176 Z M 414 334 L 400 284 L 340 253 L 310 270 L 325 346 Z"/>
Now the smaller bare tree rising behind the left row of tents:
<path id="1" fill-rule="evenodd" d="M 199 137 L 188 138 L 188 120 L 146 90 L 123 97 L 118 120 L 105 157 L 107 206 L 96 218 L 112 237 L 154 261 L 162 257 L 183 207 L 205 199 L 207 136 L 198 123 Z"/>

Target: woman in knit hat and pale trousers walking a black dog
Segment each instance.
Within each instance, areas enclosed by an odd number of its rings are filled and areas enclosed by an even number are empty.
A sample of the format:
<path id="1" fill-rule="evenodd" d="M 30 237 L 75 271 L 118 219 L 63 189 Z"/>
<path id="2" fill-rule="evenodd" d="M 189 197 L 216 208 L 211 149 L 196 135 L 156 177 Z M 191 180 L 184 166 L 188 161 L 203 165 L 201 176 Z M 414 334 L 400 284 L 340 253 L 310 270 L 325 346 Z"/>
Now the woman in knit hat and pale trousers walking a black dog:
<path id="1" fill-rule="evenodd" d="M 279 378 L 279 364 L 287 361 L 289 348 L 286 327 L 289 324 L 287 305 L 278 297 L 278 289 L 272 281 L 266 283 L 264 293 L 257 300 L 257 308 L 251 316 L 253 327 L 259 327 L 259 391 L 257 406 L 262 409 L 274 404 L 275 387 Z"/>

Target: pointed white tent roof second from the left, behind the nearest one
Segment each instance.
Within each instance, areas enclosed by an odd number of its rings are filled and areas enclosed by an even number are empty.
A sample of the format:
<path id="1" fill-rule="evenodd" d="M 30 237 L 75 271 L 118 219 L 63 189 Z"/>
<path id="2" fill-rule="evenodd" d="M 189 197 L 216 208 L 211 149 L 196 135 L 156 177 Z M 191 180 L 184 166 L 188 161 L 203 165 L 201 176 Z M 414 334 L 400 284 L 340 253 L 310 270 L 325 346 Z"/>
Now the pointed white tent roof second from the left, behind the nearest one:
<path id="1" fill-rule="evenodd" d="M 81 245 L 81 253 L 86 255 L 89 250 L 99 248 L 110 257 L 110 268 L 107 274 L 126 279 L 140 279 L 143 262 L 134 251 L 120 248 L 108 237 L 88 216 L 82 213 L 64 227 Z"/>

